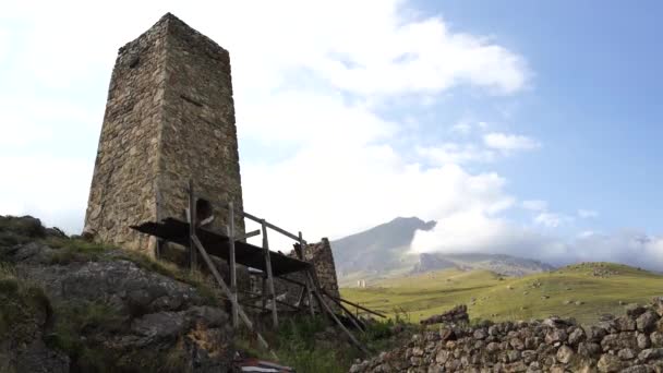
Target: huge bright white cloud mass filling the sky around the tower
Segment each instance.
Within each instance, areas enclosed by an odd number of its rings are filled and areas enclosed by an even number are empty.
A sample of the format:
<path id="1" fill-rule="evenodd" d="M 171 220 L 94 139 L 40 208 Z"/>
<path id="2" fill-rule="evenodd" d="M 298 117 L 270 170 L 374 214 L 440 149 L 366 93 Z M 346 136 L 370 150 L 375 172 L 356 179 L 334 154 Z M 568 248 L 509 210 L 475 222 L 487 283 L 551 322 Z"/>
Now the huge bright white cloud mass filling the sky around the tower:
<path id="1" fill-rule="evenodd" d="M 459 166 L 537 148 L 539 142 L 490 133 L 482 145 L 393 145 L 403 123 L 376 113 L 382 99 L 415 95 L 433 108 L 437 94 L 459 85 L 511 95 L 529 77 L 525 59 L 496 40 L 450 29 L 445 20 L 417 15 L 409 2 L 396 0 L 64 0 L 4 7 L 2 16 L 20 25 L 12 46 L 21 48 L 11 51 L 16 63 L 2 72 L 10 80 L 0 86 L 0 98 L 15 97 L 0 111 L 0 171 L 10 180 L 0 184 L 2 214 L 29 213 L 80 230 L 94 152 L 61 153 L 96 145 L 117 49 L 167 11 L 230 51 L 249 212 L 301 229 L 310 240 L 417 215 L 439 220 L 434 231 L 418 234 L 420 250 L 584 257 L 507 220 L 503 213 L 515 197 L 503 177 Z M 7 49 L 0 35 L 0 56 Z M 486 128 L 475 124 L 479 133 Z M 274 155 L 275 144 L 286 154 Z M 545 206 L 539 212 L 551 214 Z M 600 246 L 618 248 L 615 242 Z M 652 257 L 663 251 L 660 239 L 647 248 Z"/>

